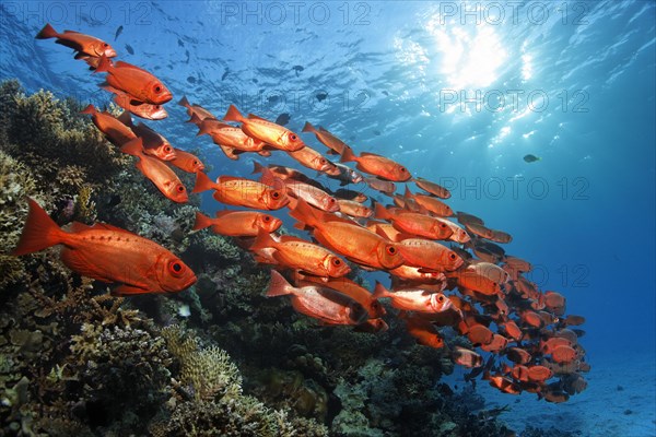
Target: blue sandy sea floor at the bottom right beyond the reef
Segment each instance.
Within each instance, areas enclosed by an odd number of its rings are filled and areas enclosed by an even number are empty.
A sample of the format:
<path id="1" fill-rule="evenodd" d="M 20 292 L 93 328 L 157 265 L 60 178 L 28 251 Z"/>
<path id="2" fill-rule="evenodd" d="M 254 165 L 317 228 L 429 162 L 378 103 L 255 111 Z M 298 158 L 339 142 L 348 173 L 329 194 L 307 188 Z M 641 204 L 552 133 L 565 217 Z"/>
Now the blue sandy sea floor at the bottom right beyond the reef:
<path id="1" fill-rule="evenodd" d="M 590 359 L 587 390 L 565 403 L 538 401 L 535 394 L 500 393 L 478 381 L 485 408 L 509 405 L 500 418 L 519 435 L 527 425 L 551 427 L 581 437 L 656 437 L 656 354 L 605 356 Z M 461 373 L 454 375 L 464 383 Z"/>

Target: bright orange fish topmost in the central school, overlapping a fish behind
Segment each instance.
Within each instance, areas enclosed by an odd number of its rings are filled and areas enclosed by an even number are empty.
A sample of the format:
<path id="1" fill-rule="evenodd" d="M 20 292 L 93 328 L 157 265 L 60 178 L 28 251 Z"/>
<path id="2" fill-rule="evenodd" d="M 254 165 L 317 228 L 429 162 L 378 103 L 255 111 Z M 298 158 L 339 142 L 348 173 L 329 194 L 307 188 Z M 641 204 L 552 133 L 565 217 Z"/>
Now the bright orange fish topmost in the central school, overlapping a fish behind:
<path id="1" fill-rule="evenodd" d="M 244 133 L 263 141 L 276 149 L 294 152 L 305 147 L 303 140 L 291 130 L 253 114 L 244 117 L 235 105 L 230 105 L 223 119 L 225 121 L 241 122 Z"/>

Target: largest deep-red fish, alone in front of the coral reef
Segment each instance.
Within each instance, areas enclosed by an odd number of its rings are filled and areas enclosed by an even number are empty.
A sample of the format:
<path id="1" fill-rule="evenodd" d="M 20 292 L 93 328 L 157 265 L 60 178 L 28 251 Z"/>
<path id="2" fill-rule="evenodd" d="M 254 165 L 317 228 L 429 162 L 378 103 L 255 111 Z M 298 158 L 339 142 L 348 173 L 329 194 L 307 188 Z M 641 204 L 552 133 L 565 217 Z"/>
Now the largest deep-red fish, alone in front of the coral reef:
<path id="1" fill-rule="evenodd" d="M 83 276 L 119 284 L 112 290 L 115 296 L 177 293 L 196 283 L 191 269 L 150 239 L 103 223 L 73 222 L 66 232 L 38 203 L 28 202 L 27 222 L 13 255 L 63 245 L 61 261 Z"/>

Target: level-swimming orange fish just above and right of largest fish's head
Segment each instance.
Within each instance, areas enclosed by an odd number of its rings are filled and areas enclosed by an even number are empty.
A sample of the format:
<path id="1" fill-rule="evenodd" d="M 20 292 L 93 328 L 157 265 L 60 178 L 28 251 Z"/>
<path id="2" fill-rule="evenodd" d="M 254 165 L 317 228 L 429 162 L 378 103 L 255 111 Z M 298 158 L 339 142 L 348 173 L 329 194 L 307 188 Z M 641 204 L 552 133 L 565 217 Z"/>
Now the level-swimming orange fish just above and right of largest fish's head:
<path id="1" fill-rule="evenodd" d="M 214 234 L 227 237 L 255 237 L 260 229 L 272 233 L 282 226 L 282 221 L 256 211 L 219 211 L 216 218 L 196 213 L 194 231 L 212 227 Z"/>

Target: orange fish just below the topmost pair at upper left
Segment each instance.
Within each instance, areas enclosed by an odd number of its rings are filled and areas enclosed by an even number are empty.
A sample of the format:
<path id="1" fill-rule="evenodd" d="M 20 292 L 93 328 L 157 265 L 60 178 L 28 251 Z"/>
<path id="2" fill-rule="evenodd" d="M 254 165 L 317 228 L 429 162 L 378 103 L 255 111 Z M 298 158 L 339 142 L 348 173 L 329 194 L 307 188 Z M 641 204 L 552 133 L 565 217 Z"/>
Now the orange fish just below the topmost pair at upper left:
<path id="1" fill-rule="evenodd" d="M 114 66 L 109 58 L 103 56 L 95 72 L 106 72 L 109 86 L 124 91 L 134 101 L 162 105 L 173 98 L 171 91 L 157 78 L 131 63 L 118 61 Z"/>

